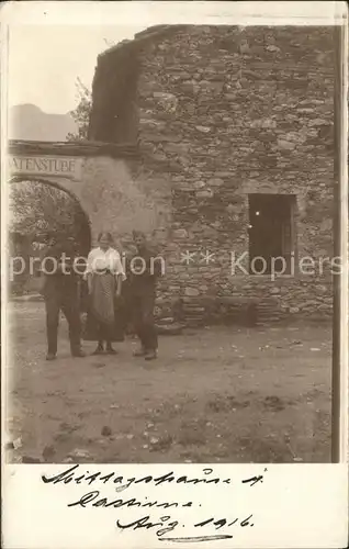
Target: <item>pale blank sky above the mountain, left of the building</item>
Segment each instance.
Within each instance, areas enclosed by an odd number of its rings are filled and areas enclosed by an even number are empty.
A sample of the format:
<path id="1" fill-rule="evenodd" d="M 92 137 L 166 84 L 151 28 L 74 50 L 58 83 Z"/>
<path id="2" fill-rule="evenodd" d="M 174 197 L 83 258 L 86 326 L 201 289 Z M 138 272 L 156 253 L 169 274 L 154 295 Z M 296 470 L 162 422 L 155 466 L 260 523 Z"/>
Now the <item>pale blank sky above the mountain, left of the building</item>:
<path id="1" fill-rule="evenodd" d="M 91 89 L 97 56 L 143 29 L 85 25 L 10 29 L 9 107 L 33 103 L 47 113 L 71 111 L 78 102 L 77 78 Z"/>

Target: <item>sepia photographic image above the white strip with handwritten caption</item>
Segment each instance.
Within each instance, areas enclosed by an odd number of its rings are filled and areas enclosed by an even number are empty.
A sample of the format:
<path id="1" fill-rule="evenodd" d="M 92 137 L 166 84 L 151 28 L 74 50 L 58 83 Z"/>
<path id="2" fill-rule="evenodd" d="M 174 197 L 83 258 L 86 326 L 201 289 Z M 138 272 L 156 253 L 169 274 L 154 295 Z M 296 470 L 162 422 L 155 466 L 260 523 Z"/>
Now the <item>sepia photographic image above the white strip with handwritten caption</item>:
<path id="1" fill-rule="evenodd" d="M 330 461 L 334 59 L 330 26 L 10 29 L 8 462 Z"/>

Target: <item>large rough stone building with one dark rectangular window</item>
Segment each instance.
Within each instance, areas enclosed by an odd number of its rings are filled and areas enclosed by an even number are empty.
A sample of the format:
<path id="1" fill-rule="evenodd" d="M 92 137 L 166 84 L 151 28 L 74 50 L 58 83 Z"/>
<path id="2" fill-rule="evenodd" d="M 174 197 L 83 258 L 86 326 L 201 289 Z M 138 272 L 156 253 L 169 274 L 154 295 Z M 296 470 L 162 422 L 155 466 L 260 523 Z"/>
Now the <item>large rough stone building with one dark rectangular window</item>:
<path id="1" fill-rule="evenodd" d="M 99 56 L 89 139 L 137 148 L 159 305 L 330 316 L 333 96 L 328 27 L 161 25 Z"/>

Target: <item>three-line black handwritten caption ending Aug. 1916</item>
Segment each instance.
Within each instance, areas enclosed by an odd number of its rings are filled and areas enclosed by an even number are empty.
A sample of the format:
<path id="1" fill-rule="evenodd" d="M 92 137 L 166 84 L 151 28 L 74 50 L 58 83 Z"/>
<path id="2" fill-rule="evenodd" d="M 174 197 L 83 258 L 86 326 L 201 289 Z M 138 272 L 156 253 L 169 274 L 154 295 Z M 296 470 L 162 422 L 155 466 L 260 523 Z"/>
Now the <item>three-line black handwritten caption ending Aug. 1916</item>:
<path id="1" fill-rule="evenodd" d="M 266 471 L 267 469 L 263 470 L 263 473 Z M 81 469 L 79 464 L 76 464 L 52 477 L 43 474 L 42 481 L 45 484 L 52 485 L 72 483 L 90 486 L 93 484 L 97 488 L 95 490 L 88 491 L 75 497 L 74 501 L 67 503 L 67 507 L 116 509 L 117 515 L 121 514 L 120 516 L 116 515 L 114 518 L 116 531 L 137 531 L 145 529 L 154 531 L 158 541 L 183 544 L 232 539 L 233 533 L 237 531 L 238 528 L 245 529 L 246 527 L 255 526 L 254 515 L 250 513 L 248 516 L 234 516 L 232 512 L 228 511 L 226 516 L 212 516 L 207 512 L 204 512 L 202 508 L 203 505 L 200 502 L 195 501 L 195 492 L 192 489 L 190 490 L 191 500 L 184 500 L 182 502 L 174 500 L 161 501 L 155 497 L 150 500 L 147 496 L 142 498 L 140 496 L 134 497 L 133 495 L 121 497 L 120 495 L 116 496 L 115 492 L 130 491 L 142 484 L 149 485 L 153 492 L 154 488 L 166 484 L 188 485 L 188 488 L 207 485 L 207 489 L 210 486 L 213 489 L 216 485 L 226 485 L 226 489 L 229 489 L 229 486 L 234 489 L 234 486 L 245 485 L 251 489 L 255 485 L 262 484 L 263 478 L 263 474 L 258 474 L 236 480 L 230 478 L 221 479 L 214 473 L 212 468 L 202 469 L 202 474 L 198 477 L 191 477 L 189 474 L 179 475 L 173 471 L 169 471 L 160 475 L 146 474 L 138 478 L 126 478 L 119 474 L 116 471 L 106 472 L 106 474 L 101 471 L 90 472 L 89 470 Z M 103 494 L 100 490 L 103 485 L 112 488 L 114 496 L 110 494 L 106 496 Z M 171 491 L 171 493 L 173 495 L 174 492 Z M 211 493 L 210 497 L 214 498 L 214 493 Z M 130 512 L 127 509 L 130 509 Z M 138 517 L 137 509 L 139 509 Z M 145 513 L 142 513 L 142 509 L 145 509 Z M 162 515 L 165 509 L 170 514 Z M 185 511 L 183 515 L 183 513 L 180 513 L 180 509 L 188 511 Z M 194 517 L 190 514 L 193 511 L 195 512 Z M 128 519 L 125 518 L 125 515 L 130 513 L 131 516 Z M 180 516 L 177 516 L 177 513 L 179 513 Z M 184 534 L 188 529 L 190 535 L 180 535 Z"/>

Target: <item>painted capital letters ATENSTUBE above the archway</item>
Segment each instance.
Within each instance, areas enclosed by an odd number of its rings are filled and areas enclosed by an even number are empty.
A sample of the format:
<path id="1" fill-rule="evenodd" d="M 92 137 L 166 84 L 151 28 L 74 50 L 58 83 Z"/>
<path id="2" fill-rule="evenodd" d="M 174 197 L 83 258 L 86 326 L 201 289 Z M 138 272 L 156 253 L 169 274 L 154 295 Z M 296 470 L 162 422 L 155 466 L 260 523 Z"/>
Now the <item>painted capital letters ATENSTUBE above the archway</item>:
<path id="1" fill-rule="evenodd" d="M 10 156 L 9 169 L 16 173 L 72 176 L 76 171 L 76 158 Z"/>

